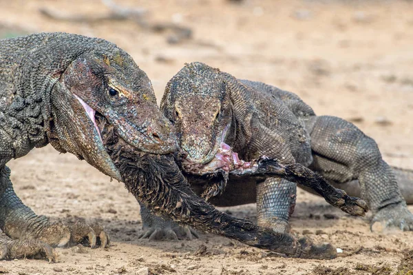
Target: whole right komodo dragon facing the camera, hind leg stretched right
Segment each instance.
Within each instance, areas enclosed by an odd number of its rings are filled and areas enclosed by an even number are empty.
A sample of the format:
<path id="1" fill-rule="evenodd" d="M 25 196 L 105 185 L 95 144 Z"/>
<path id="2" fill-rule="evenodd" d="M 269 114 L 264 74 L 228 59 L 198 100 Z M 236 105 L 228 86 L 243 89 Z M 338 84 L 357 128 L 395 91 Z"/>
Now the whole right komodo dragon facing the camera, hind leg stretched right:
<path id="1" fill-rule="evenodd" d="M 189 180 L 198 194 L 202 190 L 207 198 L 220 194 L 226 185 L 222 178 L 248 165 L 240 159 L 265 155 L 284 164 L 301 163 L 335 187 L 360 196 L 372 210 L 372 224 L 413 230 L 413 215 L 400 192 L 413 203 L 413 171 L 391 168 L 373 139 L 352 123 L 316 116 L 291 92 L 191 63 L 169 81 L 160 108 L 187 152 L 184 172 L 209 179 L 205 190 L 204 180 Z M 232 173 L 225 192 L 210 202 L 230 206 L 256 201 L 259 225 L 287 230 L 295 183 L 279 177 L 243 179 Z M 208 175 L 217 183 L 211 185 Z"/>

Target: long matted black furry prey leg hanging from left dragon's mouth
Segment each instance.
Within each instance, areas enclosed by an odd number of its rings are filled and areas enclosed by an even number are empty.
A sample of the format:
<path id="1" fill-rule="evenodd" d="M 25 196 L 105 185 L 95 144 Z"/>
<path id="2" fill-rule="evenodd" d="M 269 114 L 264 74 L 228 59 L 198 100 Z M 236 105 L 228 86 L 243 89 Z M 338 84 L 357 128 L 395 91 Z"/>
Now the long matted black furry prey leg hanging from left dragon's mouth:
<path id="1" fill-rule="evenodd" d="M 189 187 L 172 154 L 136 152 L 116 134 L 114 128 L 98 119 L 103 142 L 127 190 L 154 214 L 167 215 L 197 230 L 233 238 L 247 245 L 270 249 L 300 258 L 335 258 L 332 245 L 313 245 L 290 234 L 264 230 L 254 223 L 234 218 L 215 209 Z"/>

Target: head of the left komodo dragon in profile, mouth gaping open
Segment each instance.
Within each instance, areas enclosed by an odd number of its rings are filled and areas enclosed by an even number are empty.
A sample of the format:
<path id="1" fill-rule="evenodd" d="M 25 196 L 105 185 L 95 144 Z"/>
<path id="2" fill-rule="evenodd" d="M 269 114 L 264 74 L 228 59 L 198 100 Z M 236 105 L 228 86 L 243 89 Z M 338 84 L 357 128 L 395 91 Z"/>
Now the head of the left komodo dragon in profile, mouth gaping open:
<path id="1" fill-rule="evenodd" d="M 54 85 L 51 103 L 50 143 L 115 179 L 121 176 L 105 150 L 98 120 L 114 126 L 134 150 L 177 150 L 173 127 L 156 105 L 151 81 L 117 47 L 88 51 L 72 61 Z"/>

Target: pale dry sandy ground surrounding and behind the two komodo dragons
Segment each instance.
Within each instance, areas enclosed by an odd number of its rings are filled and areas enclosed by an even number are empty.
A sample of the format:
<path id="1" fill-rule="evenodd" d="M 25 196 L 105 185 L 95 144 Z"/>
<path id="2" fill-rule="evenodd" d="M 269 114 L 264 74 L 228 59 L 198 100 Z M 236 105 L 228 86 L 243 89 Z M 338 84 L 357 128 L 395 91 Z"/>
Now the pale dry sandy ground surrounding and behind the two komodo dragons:
<path id="1" fill-rule="evenodd" d="M 147 72 L 158 99 L 173 74 L 191 61 L 271 83 L 299 94 L 317 114 L 354 121 L 376 139 L 386 161 L 413 168 L 412 2 L 117 3 L 145 7 L 153 20 L 189 26 L 193 39 L 171 45 L 169 34 L 144 30 L 131 21 L 71 23 L 38 12 L 40 7 L 69 14 L 108 12 L 97 0 L 0 0 L 0 34 L 65 31 L 113 41 Z M 17 194 L 36 213 L 53 220 L 98 221 L 113 242 L 108 249 L 57 249 L 61 261 L 54 264 L 1 261 L 0 273 L 148 274 L 149 269 L 152 274 L 395 274 L 403 252 L 413 249 L 411 232 L 373 234 L 367 219 L 352 218 L 301 190 L 292 218 L 294 232 L 356 253 L 332 261 L 288 259 L 207 234 L 196 241 L 142 241 L 134 197 L 122 183 L 109 181 L 84 161 L 47 146 L 12 161 L 10 167 Z M 224 210 L 256 217 L 255 205 Z M 198 255 L 201 245 L 207 252 Z"/>

